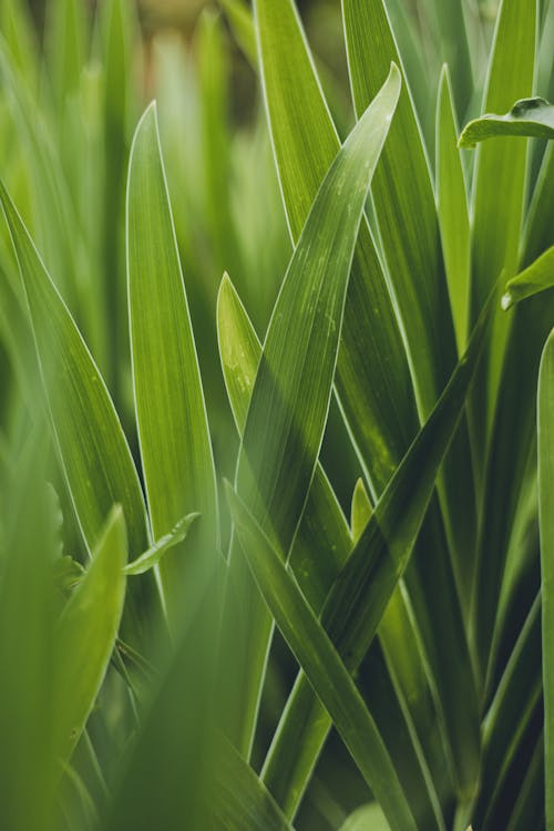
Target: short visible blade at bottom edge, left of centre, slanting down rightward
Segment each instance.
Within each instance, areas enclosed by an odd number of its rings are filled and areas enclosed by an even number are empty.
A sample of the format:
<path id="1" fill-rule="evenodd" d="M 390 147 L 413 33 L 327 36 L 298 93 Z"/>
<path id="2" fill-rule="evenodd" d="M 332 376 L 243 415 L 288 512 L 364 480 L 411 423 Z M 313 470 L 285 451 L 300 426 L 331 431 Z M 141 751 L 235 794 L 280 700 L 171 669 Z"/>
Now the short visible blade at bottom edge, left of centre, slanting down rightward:
<path id="1" fill-rule="evenodd" d="M 293 831 L 293 825 L 250 766 L 226 739 L 218 748 L 212 796 L 220 828 L 240 831 Z"/>

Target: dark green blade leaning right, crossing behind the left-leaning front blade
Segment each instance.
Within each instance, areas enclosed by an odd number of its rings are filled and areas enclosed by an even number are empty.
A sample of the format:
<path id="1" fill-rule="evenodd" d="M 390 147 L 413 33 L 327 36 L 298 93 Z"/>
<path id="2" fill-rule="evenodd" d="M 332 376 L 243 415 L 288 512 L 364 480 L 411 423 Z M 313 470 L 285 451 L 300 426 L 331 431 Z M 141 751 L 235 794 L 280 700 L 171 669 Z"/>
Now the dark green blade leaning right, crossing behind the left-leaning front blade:
<path id="1" fill-rule="evenodd" d="M 356 671 L 380 623 L 384 608 L 406 568 L 419 534 L 434 480 L 455 432 L 471 379 L 482 348 L 486 319 L 470 341 L 470 352 L 459 365 L 437 404 L 433 416 L 422 428 L 409 453 L 394 474 L 371 519 L 356 544 L 339 578 L 331 587 L 321 622 L 350 671 Z M 413 482 L 418 488 L 413 489 Z M 414 497 L 416 494 L 416 497 Z M 304 718 L 312 695 L 309 683 L 300 676 L 276 733 L 271 752 L 279 745 L 290 747 L 291 735 L 302 748 L 302 781 L 317 759 L 330 722 Z M 311 755 L 311 756 L 310 756 Z M 293 780 L 295 787 L 297 779 Z"/>

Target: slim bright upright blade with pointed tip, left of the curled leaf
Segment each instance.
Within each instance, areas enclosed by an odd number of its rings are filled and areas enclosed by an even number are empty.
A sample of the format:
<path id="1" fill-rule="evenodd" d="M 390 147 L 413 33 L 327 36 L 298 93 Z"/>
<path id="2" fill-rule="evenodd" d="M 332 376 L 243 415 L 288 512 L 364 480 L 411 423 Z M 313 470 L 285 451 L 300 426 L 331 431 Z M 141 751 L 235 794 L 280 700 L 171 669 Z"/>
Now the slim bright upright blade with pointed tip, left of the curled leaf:
<path id="1" fill-rule="evenodd" d="M 468 337 L 470 217 L 448 66 L 441 73 L 437 107 L 437 208 L 458 351 Z"/>

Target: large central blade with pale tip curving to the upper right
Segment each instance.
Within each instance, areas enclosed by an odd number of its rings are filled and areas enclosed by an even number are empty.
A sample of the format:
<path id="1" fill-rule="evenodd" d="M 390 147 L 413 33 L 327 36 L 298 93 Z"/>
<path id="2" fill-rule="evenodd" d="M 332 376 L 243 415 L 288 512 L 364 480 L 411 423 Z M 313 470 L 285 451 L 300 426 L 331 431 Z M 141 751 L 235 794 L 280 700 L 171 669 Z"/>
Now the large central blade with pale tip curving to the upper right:
<path id="1" fill-rule="evenodd" d="M 375 164 L 399 93 L 392 66 L 380 94 L 331 165 L 290 260 L 256 375 L 236 483 L 264 530 L 288 552 L 314 476 L 330 402 L 345 296 Z M 267 613 L 238 551 L 230 582 L 243 585 L 244 650 L 237 660 L 236 745 L 249 752 L 263 677 Z M 235 624 L 238 626 L 238 624 Z M 234 630 L 233 625 L 227 626 Z"/>

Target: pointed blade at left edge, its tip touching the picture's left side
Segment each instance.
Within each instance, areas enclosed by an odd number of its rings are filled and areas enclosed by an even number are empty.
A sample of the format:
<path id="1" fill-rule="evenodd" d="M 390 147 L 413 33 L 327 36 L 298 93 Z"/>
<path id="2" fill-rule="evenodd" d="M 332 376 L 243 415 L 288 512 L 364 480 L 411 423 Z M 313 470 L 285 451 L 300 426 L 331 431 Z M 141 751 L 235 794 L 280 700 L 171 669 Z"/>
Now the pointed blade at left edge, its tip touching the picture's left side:
<path id="1" fill-rule="evenodd" d="M 25 288 L 37 353 L 68 485 L 92 551 L 114 503 L 122 506 L 129 551 L 148 546 L 138 476 L 112 400 L 68 308 L 3 185 L 0 201 Z"/>

